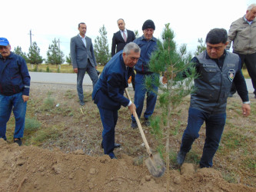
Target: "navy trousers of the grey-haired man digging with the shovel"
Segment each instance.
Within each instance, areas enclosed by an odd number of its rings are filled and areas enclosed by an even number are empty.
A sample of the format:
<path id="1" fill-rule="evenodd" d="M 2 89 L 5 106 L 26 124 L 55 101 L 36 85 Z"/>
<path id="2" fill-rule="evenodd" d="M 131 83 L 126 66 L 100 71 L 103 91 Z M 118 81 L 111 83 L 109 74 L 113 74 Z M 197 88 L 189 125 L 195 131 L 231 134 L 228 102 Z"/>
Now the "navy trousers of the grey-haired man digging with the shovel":
<path id="1" fill-rule="evenodd" d="M 101 122 L 103 125 L 102 141 L 104 154 L 108 154 L 109 157 L 114 157 L 115 125 L 118 121 L 118 110 L 111 111 L 98 107 L 98 111 L 101 115 Z"/>

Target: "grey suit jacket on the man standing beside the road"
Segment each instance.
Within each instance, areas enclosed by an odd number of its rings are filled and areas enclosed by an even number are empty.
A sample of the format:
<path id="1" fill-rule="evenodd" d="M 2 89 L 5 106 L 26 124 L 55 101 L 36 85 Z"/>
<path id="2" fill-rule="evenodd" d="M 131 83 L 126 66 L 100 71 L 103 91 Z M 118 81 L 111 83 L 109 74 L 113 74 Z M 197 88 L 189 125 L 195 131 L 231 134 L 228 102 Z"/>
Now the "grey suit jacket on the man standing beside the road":
<path id="1" fill-rule="evenodd" d="M 88 59 L 92 66 L 97 66 L 95 52 L 93 51 L 93 46 L 91 44 L 91 38 L 85 36 L 85 41 L 86 48 L 79 35 L 71 38 L 70 55 L 73 68 L 86 68 L 88 65 Z"/>

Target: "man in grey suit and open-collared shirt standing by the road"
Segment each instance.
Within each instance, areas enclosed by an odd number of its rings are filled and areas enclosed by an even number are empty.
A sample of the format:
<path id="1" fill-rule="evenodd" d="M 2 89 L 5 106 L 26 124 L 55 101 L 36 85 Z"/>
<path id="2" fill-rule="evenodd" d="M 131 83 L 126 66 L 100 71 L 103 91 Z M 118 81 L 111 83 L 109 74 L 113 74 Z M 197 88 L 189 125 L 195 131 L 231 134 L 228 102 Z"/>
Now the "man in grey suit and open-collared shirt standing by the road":
<path id="1" fill-rule="evenodd" d="M 74 72 L 77 76 L 77 89 L 79 103 L 81 106 L 85 105 L 82 83 L 85 77 L 85 71 L 89 74 L 92 85 L 95 87 L 98 81 L 98 74 L 96 71 L 97 63 L 95 60 L 95 53 L 91 44 L 91 38 L 85 36 L 87 26 L 81 22 L 78 24 L 79 34 L 71 38 L 70 41 L 70 53 L 71 63 L 73 65 Z"/>

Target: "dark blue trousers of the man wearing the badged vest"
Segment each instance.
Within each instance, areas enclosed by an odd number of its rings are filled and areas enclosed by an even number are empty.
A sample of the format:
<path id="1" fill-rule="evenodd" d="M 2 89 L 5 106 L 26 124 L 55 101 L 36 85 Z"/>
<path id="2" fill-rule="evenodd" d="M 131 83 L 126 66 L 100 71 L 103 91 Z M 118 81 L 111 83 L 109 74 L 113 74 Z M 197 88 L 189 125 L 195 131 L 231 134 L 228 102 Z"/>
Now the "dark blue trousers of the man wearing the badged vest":
<path id="1" fill-rule="evenodd" d="M 188 126 L 181 140 L 181 151 L 188 153 L 194 140 L 199 137 L 201 125 L 206 125 L 206 138 L 201 156 L 200 167 L 212 167 L 212 159 L 216 153 L 224 130 L 226 114 L 208 114 L 195 108 L 188 110 Z"/>

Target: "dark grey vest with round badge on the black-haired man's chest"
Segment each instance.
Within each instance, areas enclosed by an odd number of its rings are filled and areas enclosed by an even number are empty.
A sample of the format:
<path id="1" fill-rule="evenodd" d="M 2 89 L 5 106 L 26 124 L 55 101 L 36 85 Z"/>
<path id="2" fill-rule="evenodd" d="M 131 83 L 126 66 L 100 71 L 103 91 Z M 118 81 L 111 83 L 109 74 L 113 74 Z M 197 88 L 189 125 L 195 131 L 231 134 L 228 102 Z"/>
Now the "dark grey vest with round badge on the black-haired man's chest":
<path id="1" fill-rule="evenodd" d="M 200 65 L 200 76 L 194 79 L 196 90 L 191 94 L 190 107 L 210 114 L 225 113 L 231 84 L 238 71 L 238 55 L 227 51 L 222 71 L 214 60 L 206 58 L 206 51 L 196 58 Z"/>

